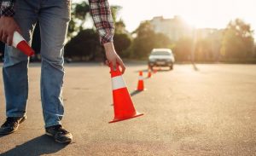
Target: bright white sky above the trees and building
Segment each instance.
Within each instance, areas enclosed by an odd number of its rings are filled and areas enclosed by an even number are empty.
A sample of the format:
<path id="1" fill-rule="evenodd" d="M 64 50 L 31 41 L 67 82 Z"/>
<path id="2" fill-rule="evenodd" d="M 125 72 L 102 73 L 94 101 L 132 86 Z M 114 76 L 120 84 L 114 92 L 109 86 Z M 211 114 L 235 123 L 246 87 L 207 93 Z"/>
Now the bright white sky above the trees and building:
<path id="1" fill-rule="evenodd" d="M 80 2 L 82 0 L 73 0 Z M 143 20 L 154 16 L 172 18 L 180 15 L 198 28 L 224 28 L 230 20 L 241 18 L 256 30 L 256 0 L 108 0 L 122 7 L 119 18 L 126 29 L 134 31 Z M 254 36 L 256 36 L 254 32 Z"/>

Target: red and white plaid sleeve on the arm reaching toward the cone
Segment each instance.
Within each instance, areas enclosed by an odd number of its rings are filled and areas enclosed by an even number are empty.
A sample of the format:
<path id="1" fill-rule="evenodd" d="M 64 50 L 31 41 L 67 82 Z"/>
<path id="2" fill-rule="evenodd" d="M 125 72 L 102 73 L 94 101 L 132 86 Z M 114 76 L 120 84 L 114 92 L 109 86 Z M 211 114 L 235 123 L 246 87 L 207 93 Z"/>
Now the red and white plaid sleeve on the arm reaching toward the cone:
<path id="1" fill-rule="evenodd" d="M 90 14 L 99 32 L 100 42 L 113 42 L 113 17 L 108 0 L 89 0 Z"/>

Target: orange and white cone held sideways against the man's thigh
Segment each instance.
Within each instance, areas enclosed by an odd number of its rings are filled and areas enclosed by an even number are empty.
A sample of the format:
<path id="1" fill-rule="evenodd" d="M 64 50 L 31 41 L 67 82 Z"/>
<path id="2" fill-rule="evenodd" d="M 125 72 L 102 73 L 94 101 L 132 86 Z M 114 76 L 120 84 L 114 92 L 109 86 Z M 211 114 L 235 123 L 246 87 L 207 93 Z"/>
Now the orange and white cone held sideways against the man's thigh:
<path id="1" fill-rule="evenodd" d="M 35 54 L 34 50 L 28 45 L 28 43 L 26 43 L 26 40 L 21 37 L 19 32 L 14 33 L 12 46 L 16 49 L 20 49 L 20 51 L 27 56 L 32 56 Z"/>

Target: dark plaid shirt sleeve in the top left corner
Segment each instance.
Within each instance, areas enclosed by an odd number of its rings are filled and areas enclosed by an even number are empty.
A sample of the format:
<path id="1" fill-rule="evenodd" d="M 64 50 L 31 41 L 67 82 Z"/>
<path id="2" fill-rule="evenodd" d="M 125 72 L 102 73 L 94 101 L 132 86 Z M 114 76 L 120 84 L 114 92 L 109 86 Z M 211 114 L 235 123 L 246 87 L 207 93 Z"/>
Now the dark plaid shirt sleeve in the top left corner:
<path id="1" fill-rule="evenodd" d="M 0 16 L 13 17 L 15 15 L 15 0 L 0 1 Z"/>

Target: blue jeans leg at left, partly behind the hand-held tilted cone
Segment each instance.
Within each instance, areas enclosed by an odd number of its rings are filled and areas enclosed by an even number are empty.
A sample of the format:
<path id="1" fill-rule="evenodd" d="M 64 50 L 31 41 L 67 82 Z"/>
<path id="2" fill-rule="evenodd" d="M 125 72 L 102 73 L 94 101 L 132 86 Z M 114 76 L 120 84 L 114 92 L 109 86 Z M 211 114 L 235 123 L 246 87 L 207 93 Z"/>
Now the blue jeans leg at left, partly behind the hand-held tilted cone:
<path id="1" fill-rule="evenodd" d="M 34 2 L 35 3 L 35 2 Z M 23 38 L 32 41 L 32 30 L 37 20 L 34 3 L 17 1 L 15 5 L 15 21 L 20 26 Z M 6 98 L 7 117 L 24 117 L 28 95 L 28 58 L 18 49 L 5 47 L 3 64 L 3 82 Z"/>

